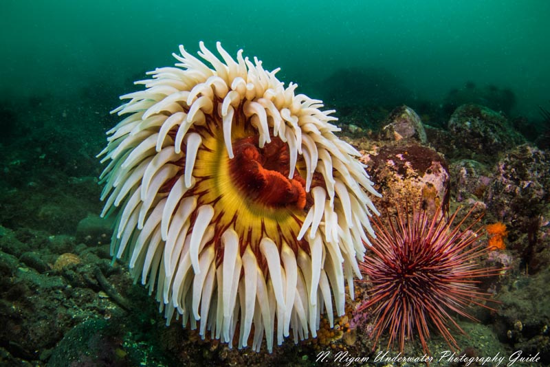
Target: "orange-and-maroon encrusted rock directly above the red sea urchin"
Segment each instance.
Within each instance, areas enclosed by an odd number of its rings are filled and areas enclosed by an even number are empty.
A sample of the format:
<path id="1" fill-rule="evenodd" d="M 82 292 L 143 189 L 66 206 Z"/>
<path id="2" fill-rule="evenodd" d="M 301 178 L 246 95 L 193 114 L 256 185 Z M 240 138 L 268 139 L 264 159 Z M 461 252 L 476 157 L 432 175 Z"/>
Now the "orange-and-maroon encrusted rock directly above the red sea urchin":
<path id="1" fill-rule="evenodd" d="M 362 162 L 382 198 L 373 200 L 377 208 L 422 205 L 433 211 L 449 201 L 450 174 L 445 159 L 432 148 L 414 142 L 388 144 Z"/>

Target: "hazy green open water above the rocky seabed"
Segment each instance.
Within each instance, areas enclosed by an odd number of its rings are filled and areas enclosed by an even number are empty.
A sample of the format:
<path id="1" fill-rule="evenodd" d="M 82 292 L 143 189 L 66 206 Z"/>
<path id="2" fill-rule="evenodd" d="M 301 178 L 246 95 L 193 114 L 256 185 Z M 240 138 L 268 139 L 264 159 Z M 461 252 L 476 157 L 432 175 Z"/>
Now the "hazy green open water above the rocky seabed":
<path id="1" fill-rule="evenodd" d="M 417 99 L 437 102 L 469 80 L 511 89 L 522 115 L 538 115 L 550 99 L 545 0 L 1 4 L 3 99 L 72 96 L 90 85 L 121 94 L 144 71 L 171 65 L 179 44 L 196 52 L 199 41 L 243 48 L 316 98 L 327 98 L 323 81 L 339 69 L 369 67 Z"/>

